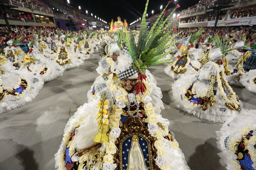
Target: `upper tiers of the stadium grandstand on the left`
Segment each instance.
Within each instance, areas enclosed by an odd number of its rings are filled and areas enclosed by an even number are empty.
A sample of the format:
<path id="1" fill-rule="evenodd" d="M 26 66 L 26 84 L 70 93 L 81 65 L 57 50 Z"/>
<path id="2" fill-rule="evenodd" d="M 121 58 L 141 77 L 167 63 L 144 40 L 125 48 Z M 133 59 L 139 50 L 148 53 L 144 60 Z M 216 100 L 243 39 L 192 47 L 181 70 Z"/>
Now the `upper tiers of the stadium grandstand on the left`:
<path id="1" fill-rule="evenodd" d="M 59 0 L 4 0 L 0 25 L 23 25 L 60 29 L 107 28 L 107 24 L 89 14 Z M 8 24 L 6 23 L 6 20 Z M 92 22 L 95 21 L 95 22 Z"/>

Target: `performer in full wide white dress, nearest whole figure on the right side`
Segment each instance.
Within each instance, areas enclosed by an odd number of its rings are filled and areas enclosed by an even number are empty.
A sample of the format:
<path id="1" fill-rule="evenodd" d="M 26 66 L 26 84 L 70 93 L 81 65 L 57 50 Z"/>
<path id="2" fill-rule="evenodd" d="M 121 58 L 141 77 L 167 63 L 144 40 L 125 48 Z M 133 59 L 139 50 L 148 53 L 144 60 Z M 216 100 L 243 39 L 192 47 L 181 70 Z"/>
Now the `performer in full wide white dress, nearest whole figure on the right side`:
<path id="1" fill-rule="evenodd" d="M 205 120 L 223 123 L 238 113 L 241 104 L 226 80 L 219 48 L 211 49 L 210 60 L 198 74 L 175 81 L 171 97 L 183 111 Z"/>

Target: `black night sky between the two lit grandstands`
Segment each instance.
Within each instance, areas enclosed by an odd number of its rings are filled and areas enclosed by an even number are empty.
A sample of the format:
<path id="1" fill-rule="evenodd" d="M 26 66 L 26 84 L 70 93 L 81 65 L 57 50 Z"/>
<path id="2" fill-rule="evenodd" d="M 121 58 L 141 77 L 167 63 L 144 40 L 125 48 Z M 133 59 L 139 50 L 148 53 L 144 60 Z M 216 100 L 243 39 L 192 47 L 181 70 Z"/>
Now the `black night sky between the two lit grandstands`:
<path id="1" fill-rule="evenodd" d="M 63 0 L 65 3 L 67 0 Z M 102 20 L 105 20 L 107 22 L 110 22 L 111 19 L 114 19 L 114 21 L 117 20 L 117 16 L 121 17 L 121 20 L 124 19 L 127 20 L 127 23 L 131 23 L 134 20 L 139 19 L 142 16 L 143 10 L 145 9 L 146 0 L 69 0 L 70 5 L 77 7 L 81 6 L 81 11 L 85 12 L 85 10 L 88 11 L 88 13 L 91 15 L 93 13 L 94 15 L 97 15 L 97 18 L 101 18 Z M 179 10 L 182 10 L 184 8 L 188 8 L 189 6 L 192 6 L 196 3 L 198 3 L 199 0 L 178 0 L 175 3 L 178 3 L 180 5 Z M 166 0 L 150 0 L 148 5 L 148 17 L 150 17 L 151 11 L 154 10 L 154 13 L 160 12 L 160 6 L 167 4 L 168 1 Z M 169 5 L 170 7 L 174 7 L 174 0 Z"/>

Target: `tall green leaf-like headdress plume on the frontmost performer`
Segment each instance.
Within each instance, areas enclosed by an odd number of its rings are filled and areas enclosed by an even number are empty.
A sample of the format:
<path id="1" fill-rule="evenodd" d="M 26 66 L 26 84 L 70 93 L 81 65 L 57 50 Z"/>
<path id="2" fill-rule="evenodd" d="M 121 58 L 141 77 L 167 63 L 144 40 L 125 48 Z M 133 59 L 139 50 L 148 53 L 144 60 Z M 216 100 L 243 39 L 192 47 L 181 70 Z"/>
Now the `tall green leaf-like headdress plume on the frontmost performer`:
<path id="1" fill-rule="evenodd" d="M 175 37 L 179 35 L 173 34 L 173 28 L 167 32 L 165 30 L 170 26 L 171 22 L 167 22 L 170 16 L 173 14 L 174 10 L 165 18 L 165 10 L 169 4 L 167 4 L 161 14 L 158 16 L 157 20 L 151 27 L 150 31 L 147 33 L 146 27 L 146 14 L 148 7 L 147 0 L 145 11 L 142 15 L 141 27 L 138 39 L 138 46 L 136 45 L 135 39 L 133 37 L 132 30 L 130 30 L 130 36 L 126 36 L 126 44 L 129 49 L 130 55 L 133 58 L 133 67 L 138 70 L 139 73 L 144 74 L 147 67 L 171 62 L 171 60 L 158 61 L 165 57 L 167 54 L 172 53 L 172 50 L 164 53 L 166 48 L 178 43 L 179 40 L 174 40 Z M 177 4 L 178 5 L 178 4 Z M 170 44 L 167 44 L 169 42 Z"/>

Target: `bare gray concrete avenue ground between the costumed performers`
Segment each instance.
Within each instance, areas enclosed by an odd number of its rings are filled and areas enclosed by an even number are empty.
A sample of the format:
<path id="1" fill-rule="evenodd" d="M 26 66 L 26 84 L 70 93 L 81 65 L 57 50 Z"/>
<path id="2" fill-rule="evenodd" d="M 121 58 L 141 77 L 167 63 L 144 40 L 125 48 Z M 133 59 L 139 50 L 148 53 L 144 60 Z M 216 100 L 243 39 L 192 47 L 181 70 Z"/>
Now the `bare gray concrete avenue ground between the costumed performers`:
<path id="1" fill-rule="evenodd" d="M 26 106 L 0 115 L 0 169 L 55 169 L 54 154 L 62 140 L 63 129 L 76 109 L 87 101 L 98 66 L 98 53 L 79 68 L 65 71 L 62 77 L 46 82 L 39 95 Z M 170 77 L 164 73 L 167 64 L 149 70 L 163 92 L 162 115 L 171 122 L 180 148 L 192 170 L 223 170 L 219 164 L 216 134 L 221 123 L 211 123 L 175 108 L 169 91 Z M 247 109 L 256 109 L 255 94 L 234 87 Z"/>

